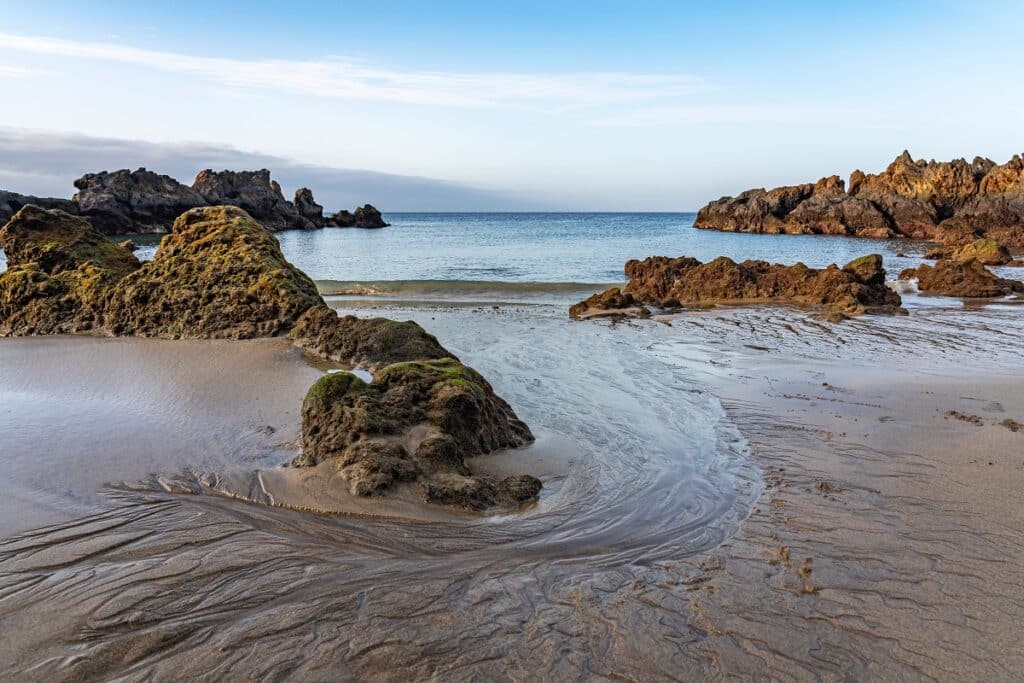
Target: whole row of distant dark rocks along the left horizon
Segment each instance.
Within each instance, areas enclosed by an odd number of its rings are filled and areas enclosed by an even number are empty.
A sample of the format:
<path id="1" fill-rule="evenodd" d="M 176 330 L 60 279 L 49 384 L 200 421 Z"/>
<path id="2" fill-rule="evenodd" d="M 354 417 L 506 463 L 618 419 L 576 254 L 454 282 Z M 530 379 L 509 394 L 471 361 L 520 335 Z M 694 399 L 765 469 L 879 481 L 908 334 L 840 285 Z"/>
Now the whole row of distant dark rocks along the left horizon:
<path id="1" fill-rule="evenodd" d="M 86 173 L 75 181 L 70 199 L 32 197 L 0 190 L 0 225 L 25 206 L 59 209 L 80 215 L 108 236 L 167 232 L 189 209 L 234 206 L 270 230 L 311 230 L 322 227 L 386 227 L 381 212 L 367 204 L 355 211 L 324 215 L 308 187 L 288 201 L 270 171 L 201 171 L 191 186 L 144 168 L 135 171 Z"/>

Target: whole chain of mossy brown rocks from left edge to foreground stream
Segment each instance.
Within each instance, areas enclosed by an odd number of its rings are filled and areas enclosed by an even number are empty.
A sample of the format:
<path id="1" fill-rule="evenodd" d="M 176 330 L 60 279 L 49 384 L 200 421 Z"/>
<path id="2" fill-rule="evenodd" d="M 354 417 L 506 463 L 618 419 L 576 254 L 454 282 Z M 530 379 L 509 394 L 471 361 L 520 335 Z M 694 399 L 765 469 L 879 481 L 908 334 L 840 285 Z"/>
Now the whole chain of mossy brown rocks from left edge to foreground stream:
<path id="1" fill-rule="evenodd" d="M 153 261 L 140 263 L 88 221 L 35 206 L 0 230 L 0 335 L 96 332 L 163 338 L 289 335 L 348 367 L 303 405 L 296 466 L 336 466 L 358 495 L 416 481 L 425 500 L 482 509 L 536 498 L 521 475 L 474 475 L 467 459 L 532 440 L 490 385 L 413 322 L 339 317 L 276 238 L 233 206 L 179 216 Z"/>

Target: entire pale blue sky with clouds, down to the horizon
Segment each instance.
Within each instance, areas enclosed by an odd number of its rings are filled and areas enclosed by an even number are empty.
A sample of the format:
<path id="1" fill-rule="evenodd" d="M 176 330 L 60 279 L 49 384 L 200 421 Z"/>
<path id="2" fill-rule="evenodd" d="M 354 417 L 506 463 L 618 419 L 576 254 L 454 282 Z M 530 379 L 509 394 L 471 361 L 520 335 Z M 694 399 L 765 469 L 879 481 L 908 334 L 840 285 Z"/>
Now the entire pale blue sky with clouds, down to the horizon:
<path id="1" fill-rule="evenodd" d="M 0 187 L 266 167 L 328 208 L 687 211 L 1024 151 L 1024 2 L 0 0 Z"/>

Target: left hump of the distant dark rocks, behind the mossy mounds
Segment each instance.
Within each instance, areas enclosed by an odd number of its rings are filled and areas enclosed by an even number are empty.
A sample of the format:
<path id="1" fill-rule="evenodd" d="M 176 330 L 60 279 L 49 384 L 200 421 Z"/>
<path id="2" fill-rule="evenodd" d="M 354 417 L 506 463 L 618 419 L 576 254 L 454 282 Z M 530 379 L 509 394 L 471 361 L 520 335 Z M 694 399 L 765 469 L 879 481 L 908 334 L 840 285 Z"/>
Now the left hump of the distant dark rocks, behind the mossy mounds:
<path id="1" fill-rule="evenodd" d="M 78 212 L 103 234 L 165 232 L 182 213 L 207 204 L 191 187 L 144 168 L 87 173 L 75 186 Z"/>

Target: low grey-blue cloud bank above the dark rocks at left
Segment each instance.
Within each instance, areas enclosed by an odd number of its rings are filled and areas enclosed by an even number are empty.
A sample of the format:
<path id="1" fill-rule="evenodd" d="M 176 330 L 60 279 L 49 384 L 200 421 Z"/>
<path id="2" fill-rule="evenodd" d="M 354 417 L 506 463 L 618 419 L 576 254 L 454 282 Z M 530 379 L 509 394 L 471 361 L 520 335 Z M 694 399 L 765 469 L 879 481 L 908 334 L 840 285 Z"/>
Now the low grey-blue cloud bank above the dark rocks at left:
<path id="1" fill-rule="evenodd" d="M 284 157 L 204 142 L 157 143 L 90 137 L 74 132 L 0 127 L 0 188 L 71 197 L 87 172 L 144 166 L 190 184 L 205 169 L 270 169 L 286 197 L 313 190 L 329 211 L 370 202 L 387 211 L 516 211 L 548 209 L 513 194 L 435 178 L 303 164 Z"/>

